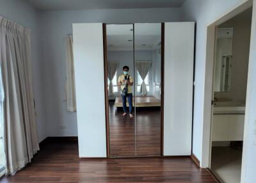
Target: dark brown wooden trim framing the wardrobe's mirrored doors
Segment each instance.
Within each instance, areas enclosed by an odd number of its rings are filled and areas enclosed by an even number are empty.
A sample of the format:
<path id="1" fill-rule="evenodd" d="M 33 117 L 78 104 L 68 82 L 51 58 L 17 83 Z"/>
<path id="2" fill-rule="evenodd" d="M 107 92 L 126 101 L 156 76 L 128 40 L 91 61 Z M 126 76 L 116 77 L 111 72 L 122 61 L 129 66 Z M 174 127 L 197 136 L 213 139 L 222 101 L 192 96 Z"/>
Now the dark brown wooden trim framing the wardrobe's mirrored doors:
<path id="1" fill-rule="evenodd" d="M 134 26 L 134 23 L 132 23 Z M 109 139 L 109 102 L 108 102 L 108 45 L 107 45 L 107 33 L 106 23 L 102 24 L 103 32 L 103 51 L 104 51 L 104 94 L 105 94 L 105 113 L 106 113 L 106 150 L 107 157 L 110 156 L 110 139 Z M 134 43 L 134 41 L 133 41 Z M 133 44 L 134 49 L 134 44 Z M 161 154 L 163 157 L 163 145 L 164 145 L 164 22 L 161 22 Z M 153 157 L 153 156 L 150 156 Z"/>

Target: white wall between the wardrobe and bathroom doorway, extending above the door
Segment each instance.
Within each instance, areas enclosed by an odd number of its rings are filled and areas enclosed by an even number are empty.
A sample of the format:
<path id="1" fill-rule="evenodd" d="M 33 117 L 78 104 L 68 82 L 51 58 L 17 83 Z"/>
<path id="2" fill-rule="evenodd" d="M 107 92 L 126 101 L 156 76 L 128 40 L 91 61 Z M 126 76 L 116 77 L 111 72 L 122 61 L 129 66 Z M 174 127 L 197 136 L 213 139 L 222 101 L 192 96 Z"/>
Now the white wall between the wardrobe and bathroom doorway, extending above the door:
<path id="1" fill-rule="evenodd" d="M 202 161 L 204 83 L 207 26 L 243 0 L 187 0 L 182 6 L 183 20 L 196 21 L 195 100 L 193 154 Z"/>

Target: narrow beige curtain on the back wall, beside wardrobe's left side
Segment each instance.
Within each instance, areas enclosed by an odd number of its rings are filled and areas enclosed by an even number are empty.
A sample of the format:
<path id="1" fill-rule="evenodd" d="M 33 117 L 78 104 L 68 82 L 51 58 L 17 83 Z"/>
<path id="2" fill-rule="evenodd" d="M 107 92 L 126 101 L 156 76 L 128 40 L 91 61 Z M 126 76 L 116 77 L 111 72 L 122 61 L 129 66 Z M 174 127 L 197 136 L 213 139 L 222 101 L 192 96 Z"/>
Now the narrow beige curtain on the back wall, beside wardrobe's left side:
<path id="1" fill-rule="evenodd" d="M 76 112 L 76 86 L 74 72 L 73 37 L 68 35 L 66 40 L 66 100 L 67 111 Z"/>

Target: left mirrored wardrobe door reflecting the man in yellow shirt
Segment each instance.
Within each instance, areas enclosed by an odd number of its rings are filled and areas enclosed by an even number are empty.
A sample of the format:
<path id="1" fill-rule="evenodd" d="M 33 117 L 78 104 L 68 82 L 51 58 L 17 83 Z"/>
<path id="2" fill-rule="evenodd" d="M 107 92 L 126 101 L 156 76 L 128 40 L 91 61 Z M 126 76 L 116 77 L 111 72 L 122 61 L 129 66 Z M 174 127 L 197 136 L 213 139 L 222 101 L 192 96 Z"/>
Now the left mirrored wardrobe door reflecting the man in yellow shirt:
<path id="1" fill-rule="evenodd" d="M 109 154 L 110 157 L 135 157 L 133 24 L 107 24 Z M 123 69 L 125 67 L 125 69 Z M 124 70 L 125 73 L 124 74 Z M 128 79 L 128 78 L 129 79 Z M 127 97 L 122 92 L 128 81 Z M 129 96 L 128 96 L 129 95 Z M 126 106 L 123 106 L 126 100 Z M 133 103 L 133 104 L 132 104 Z M 133 105 L 133 106 L 132 106 Z"/>

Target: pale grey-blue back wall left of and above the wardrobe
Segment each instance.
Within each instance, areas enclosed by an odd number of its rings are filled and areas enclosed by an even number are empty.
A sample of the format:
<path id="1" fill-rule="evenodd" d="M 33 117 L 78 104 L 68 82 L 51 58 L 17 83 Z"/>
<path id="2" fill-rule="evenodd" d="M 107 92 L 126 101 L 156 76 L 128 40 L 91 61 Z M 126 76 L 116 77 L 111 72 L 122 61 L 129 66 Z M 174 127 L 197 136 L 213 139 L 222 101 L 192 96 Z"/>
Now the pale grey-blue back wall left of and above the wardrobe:
<path id="1" fill-rule="evenodd" d="M 77 136 L 76 113 L 68 113 L 63 102 L 65 38 L 72 33 L 72 23 L 175 22 L 180 20 L 180 8 L 46 11 L 41 15 L 47 135 Z M 61 126 L 65 126 L 65 129 L 61 129 Z"/>

